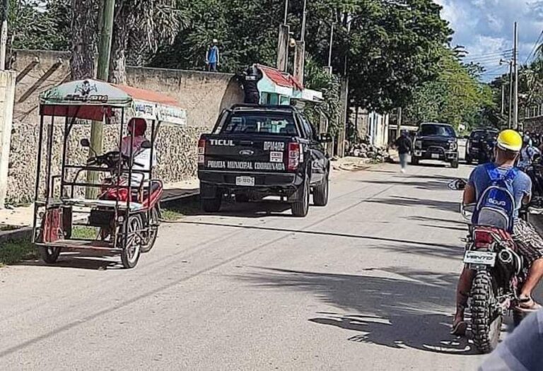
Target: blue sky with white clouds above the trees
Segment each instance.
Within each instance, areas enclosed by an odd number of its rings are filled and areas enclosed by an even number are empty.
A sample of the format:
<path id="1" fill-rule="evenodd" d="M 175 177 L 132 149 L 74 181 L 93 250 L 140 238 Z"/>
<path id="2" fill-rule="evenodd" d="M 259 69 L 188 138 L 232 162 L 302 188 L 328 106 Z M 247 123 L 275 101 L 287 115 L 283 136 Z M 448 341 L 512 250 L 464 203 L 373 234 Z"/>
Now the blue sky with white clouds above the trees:
<path id="1" fill-rule="evenodd" d="M 500 67 L 500 52 L 513 48 L 513 23 L 518 22 L 520 62 L 524 63 L 543 30 L 543 0 L 434 0 L 441 16 L 455 30 L 452 45 L 470 53 L 466 61 L 479 61 L 491 80 Z M 509 54 L 511 56 L 512 54 Z"/>

